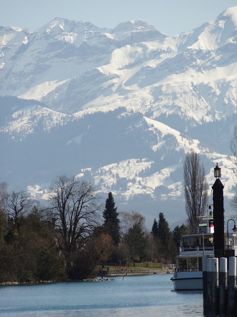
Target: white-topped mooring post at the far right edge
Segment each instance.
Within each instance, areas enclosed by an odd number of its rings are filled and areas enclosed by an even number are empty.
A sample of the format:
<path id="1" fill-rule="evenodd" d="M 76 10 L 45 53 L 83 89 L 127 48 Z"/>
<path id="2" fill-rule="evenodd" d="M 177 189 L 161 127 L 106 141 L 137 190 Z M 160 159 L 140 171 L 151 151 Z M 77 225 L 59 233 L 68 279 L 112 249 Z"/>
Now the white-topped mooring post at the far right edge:
<path id="1" fill-rule="evenodd" d="M 229 257 L 228 312 L 235 313 L 236 307 L 236 257 Z"/>

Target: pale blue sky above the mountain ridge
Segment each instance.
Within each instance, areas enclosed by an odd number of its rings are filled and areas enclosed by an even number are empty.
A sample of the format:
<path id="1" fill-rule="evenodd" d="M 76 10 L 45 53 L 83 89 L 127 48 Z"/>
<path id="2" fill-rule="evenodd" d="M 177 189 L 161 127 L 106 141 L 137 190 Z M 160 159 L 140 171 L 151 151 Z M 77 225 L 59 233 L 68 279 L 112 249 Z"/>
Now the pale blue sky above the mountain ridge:
<path id="1" fill-rule="evenodd" d="M 237 0 L 9 0 L 1 1 L 0 25 L 34 31 L 55 16 L 113 28 L 141 19 L 160 32 L 175 35 L 213 20 Z"/>

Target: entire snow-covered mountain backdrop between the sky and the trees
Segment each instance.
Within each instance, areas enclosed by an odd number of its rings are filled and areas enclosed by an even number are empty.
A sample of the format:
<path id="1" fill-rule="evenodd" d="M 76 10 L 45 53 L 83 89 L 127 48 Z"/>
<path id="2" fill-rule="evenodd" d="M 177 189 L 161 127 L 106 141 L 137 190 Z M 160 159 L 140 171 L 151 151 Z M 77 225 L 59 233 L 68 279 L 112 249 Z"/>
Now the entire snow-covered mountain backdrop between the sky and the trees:
<path id="1" fill-rule="evenodd" d="M 55 18 L 37 32 L 0 28 L 0 180 L 44 197 L 57 174 L 112 191 L 149 223 L 184 221 L 185 152 L 200 153 L 210 186 L 229 143 L 237 93 L 237 7 L 167 37 L 143 21 L 114 29 Z M 2 106 L 2 107 L 1 107 Z M 225 208 L 227 210 L 228 208 Z"/>

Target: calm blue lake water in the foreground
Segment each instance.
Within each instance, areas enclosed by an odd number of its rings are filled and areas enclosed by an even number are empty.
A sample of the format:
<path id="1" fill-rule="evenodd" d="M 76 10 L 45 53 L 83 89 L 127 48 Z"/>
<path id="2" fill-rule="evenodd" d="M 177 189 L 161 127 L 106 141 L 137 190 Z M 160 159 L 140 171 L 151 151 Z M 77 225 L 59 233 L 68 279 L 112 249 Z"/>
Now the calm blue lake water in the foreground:
<path id="1" fill-rule="evenodd" d="M 1 317 L 200 317 L 202 291 L 174 291 L 171 274 L 0 287 Z"/>

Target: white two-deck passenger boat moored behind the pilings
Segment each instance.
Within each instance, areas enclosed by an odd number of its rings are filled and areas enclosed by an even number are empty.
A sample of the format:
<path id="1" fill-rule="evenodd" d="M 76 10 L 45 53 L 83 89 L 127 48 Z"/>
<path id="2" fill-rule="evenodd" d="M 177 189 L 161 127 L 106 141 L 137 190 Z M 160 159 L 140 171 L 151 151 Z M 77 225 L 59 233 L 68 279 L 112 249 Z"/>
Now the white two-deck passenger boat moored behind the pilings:
<path id="1" fill-rule="evenodd" d="M 214 257 L 213 224 L 201 224 L 197 233 L 181 236 L 179 255 L 176 256 L 176 267 L 171 278 L 175 290 L 201 290 L 203 289 L 202 256 L 209 254 Z M 236 234 L 227 233 L 225 236 L 225 249 L 234 250 L 237 255 Z"/>

